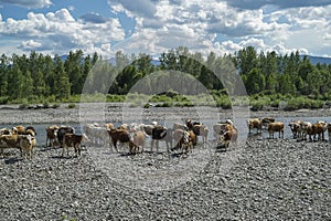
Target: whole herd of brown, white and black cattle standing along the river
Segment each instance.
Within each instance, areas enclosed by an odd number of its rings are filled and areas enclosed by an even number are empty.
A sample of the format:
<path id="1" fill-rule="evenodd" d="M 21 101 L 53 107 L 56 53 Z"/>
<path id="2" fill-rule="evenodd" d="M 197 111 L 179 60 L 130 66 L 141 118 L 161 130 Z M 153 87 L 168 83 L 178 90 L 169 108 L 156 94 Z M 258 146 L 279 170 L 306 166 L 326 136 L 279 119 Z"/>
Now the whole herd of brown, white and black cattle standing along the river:
<path id="1" fill-rule="evenodd" d="M 275 118 L 250 118 L 247 120 L 249 134 L 254 130 L 256 134 L 266 129 L 269 138 L 274 138 L 274 134 L 278 133 L 278 137 L 284 138 L 285 124 L 275 120 Z M 290 122 L 288 125 L 295 139 L 307 140 L 324 140 L 324 133 L 328 131 L 329 139 L 331 137 L 331 124 L 325 122 L 317 122 L 314 124 L 303 120 Z M 225 149 L 231 143 L 236 143 L 238 129 L 231 119 L 218 122 L 213 126 L 213 135 L 216 139 L 217 147 Z M 127 144 L 129 154 L 143 152 L 147 137 L 151 138 L 150 150 L 153 147 L 159 150 L 159 141 L 164 141 L 168 151 L 180 150 L 181 152 L 190 152 L 197 144 L 197 137 L 202 137 L 202 144 L 207 143 L 210 129 L 206 125 L 199 122 L 185 120 L 184 124 L 174 123 L 172 128 L 158 125 L 153 122 L 150 125 L 122 124 L 115 127 L 114 124 L 100 126 L 98 124 L 86 124 L 83 127 L 83 134 L 75 133 L 71 126 L 52 125 L 45 128 L 46 146 L 53 148 L 62 148 L 62 156 L 65 150 L 74 148 L 76 156 L 81 156 L 81 146 L 109 146 L 111 150 L 115 148 L 119 151 L 119 146 L 125 148 Z M 33 148 L 36 146 L 35 129 L 32 126 L 15 126 L 11 129 L 0 129 L 0 155 L 3 156 L 3 149 L 18 148 L 21 156 L 31 159 Z"/>

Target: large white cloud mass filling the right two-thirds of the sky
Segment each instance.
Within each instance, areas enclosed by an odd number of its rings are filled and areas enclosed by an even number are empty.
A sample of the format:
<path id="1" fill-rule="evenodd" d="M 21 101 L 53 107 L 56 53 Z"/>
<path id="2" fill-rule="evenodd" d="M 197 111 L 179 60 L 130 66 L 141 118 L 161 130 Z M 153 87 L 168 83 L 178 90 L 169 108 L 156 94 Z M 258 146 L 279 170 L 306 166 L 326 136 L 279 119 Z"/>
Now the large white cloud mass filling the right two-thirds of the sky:
<path id="1" fill-rule="evenodd" d="M 213 51 L 217 54 L 233 53 L 247 45 L 281 54 L 297 50 L 307 53 L 313 51 L 318 43 L 328 45 L 325 41 L 331 33 L 328 31 L 331 27 L 331 6 L 328 6 L 328 1 L 154 0 L 141 2 L 148 2 L 148 7 L 134 9 L 136 2 L 128 6 L 125 0 L 108 1 L 114 12 L 124 12 L 136 20 L 135 34 L 117 44 L 128 53 L 140 50 L 159 53 L 179 45 L 186 46 L 191 51 L 202 53 Z M 273 6 L 273 10 L 266 9 L 266 6 Z M 311 40 L 302 32 L 301 38 L 305 39 L 301 41 L 302 44 L 293 43 L 299 38 L 293 34 L 298 30 L 316 33 L 320 28 L 323 29 L 319 32 L 321 38 Z"/>

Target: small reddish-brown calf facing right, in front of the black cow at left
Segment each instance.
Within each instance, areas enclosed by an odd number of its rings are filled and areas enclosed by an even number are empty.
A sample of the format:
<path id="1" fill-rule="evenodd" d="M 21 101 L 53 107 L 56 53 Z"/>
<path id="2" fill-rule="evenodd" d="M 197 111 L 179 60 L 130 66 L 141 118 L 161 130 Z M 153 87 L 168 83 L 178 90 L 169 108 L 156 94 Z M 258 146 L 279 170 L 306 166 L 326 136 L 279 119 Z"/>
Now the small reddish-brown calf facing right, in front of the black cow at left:
<path id="1" fill-rule="evenodd" d="M 88 139 L 85 134 L 77 135 L 77 134 L 64 134 L 63 137 L 63 150 L 62 150 L 62 157 L 64 156 L 64 150 L 66 149 L 66 156 L 68 156 L 68 149 L 70 147 L 73 147 L 75 149 L 76 157 L 81 156 L 81 145 L 84 139 Z"/>

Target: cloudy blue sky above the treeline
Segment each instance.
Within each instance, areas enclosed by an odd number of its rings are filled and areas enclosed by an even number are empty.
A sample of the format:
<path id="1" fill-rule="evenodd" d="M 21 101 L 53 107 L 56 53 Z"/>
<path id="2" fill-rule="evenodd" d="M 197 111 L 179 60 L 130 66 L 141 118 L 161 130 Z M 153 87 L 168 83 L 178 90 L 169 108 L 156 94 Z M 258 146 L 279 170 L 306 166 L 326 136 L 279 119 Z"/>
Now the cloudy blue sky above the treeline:
<path id="1" fill-rule="evenodd" d="M 104 57 L 258 51 L 331 56 L 331 0 L 0 0 L 0 53 Z"/>

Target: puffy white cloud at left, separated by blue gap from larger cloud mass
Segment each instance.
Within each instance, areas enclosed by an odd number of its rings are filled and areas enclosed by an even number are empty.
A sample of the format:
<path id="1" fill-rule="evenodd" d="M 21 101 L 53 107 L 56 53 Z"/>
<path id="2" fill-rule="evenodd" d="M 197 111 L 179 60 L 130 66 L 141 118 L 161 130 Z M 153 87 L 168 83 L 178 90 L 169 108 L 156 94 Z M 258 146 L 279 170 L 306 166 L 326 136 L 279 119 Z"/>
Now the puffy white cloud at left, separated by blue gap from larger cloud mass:
<path id="1" fill-rule="evenodd" d="M 46 14 L 29 12 L 24 20 L 1 21 L 0 35 L 25 39 L 19 45 L 21 50 L 66 53 L 73 49 L 88 51 L 111 41 L 120 41 L 125 32 L 118 19 L 108 19 L 104 23 L 85 22 L 75 20 L 67 9 L 61 9 Z"/>

